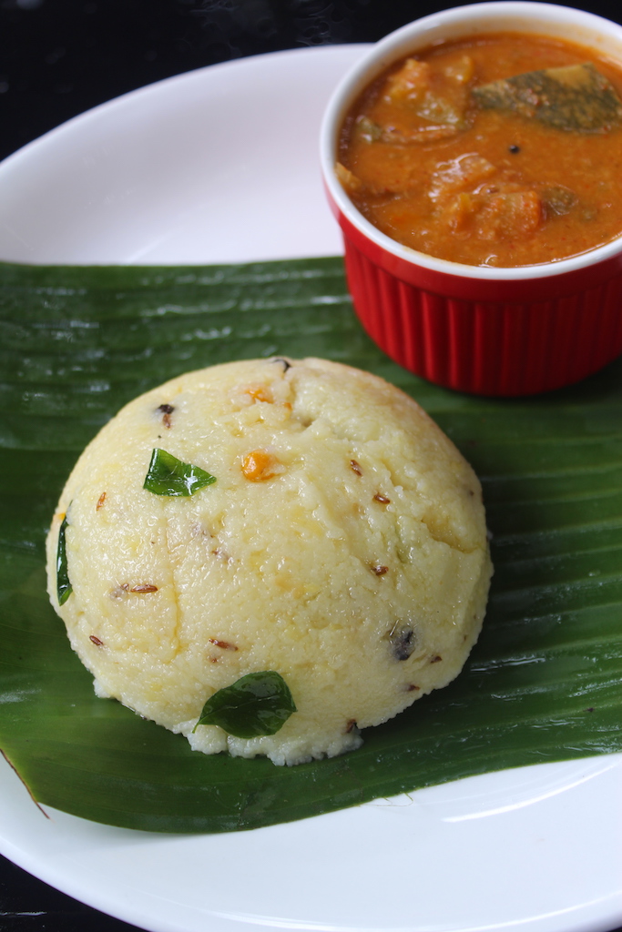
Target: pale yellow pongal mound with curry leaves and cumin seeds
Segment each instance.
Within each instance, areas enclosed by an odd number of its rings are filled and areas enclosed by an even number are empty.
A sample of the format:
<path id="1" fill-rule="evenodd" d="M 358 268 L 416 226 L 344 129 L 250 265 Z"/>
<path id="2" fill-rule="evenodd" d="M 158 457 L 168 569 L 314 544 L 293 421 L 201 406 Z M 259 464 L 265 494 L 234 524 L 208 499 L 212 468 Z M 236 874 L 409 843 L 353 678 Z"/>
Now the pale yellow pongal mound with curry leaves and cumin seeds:
<path id="1" fill-rule="evenodd" d="M 278 764 L 358 747 L 456 677 L 490 576 L 461 454 L 402 391 L 319 359 L 135 399 L 48 535 L 49 595 L 99 695 Z"/>

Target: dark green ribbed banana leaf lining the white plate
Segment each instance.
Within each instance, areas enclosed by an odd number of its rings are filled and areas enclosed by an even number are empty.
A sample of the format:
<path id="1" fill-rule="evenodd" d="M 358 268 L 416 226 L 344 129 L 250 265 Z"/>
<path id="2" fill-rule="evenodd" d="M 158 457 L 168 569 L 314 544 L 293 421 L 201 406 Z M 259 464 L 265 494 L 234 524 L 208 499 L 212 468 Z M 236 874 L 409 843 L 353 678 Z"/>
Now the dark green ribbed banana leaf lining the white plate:
<path id="1" fill-rule="evenodd" d="M 530 399 L 437 388 L 372 345 L 338 257 L 0 266 L 0 326 L 0 747 L 37 802 L 133 829 L 252 829 L 622 750 L 622 361 Z M 366 730 L 359 750 L 292 768 L 193 752 L 96 698 L 44 574 L 62 485 L 122 404 L 186 370 L 273 354 L 351 363 L 412 394 L 481 478 L 496 569 L 459 678 Z"/>

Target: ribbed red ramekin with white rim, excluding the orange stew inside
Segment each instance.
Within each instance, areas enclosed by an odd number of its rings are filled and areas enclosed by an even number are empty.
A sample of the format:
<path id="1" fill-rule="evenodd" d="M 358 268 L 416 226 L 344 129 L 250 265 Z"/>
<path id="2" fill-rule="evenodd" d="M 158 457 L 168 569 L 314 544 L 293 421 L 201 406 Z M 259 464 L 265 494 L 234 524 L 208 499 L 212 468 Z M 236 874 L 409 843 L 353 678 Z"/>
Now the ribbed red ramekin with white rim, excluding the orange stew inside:
<path id="1" fill-rule="evenodd" d="M 622 353 L 622 235 L 558 262 L 466 266 L 385 236 L 335 174 L 346 113 L 385 68 L 441 40 L 500 32 L 554 36 L 622 62 L 622 27 L 583 10 L 501 0 L 435 13 L 386 36 L 341 81 L 325 111 L 321 162 L 354 308 L 369 336 L 436 384 L 516 396 L 570 385 Z"/>

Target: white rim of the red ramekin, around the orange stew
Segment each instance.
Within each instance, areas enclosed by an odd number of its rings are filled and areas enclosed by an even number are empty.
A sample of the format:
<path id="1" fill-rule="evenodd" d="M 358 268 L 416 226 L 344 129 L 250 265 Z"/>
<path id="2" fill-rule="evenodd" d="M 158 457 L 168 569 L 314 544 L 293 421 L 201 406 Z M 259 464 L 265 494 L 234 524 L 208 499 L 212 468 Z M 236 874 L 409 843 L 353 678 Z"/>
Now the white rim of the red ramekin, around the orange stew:
<path id="1" fill-rule="evenodd" d="M 449 7 L 414 20 L 384 36 L 341 78 L 326 107 L 320 128 L 320 165 L 326 194 L 338 214 L 350 222 L 380 250 L 413 267 L 477 281 L 532 281 L 610 262 L 622 254 L 622 231 L 613 240 L 554 262 L 530 266 L 467 266 L 421 253 L 392 240 L 358 211 L 339 184 L 335 173 L 339 130 L 358 94 L 393 62 L 418 48 L 428 48 L 441 36 L 458 38 L 482 32 L 525 32 L 557 35 L 577 45 L 594 48 L 612 59 L 619 55 L 622 69 L 622 25 L 595 13 L 540 0 L 484 0 L 463 7 Z"/>

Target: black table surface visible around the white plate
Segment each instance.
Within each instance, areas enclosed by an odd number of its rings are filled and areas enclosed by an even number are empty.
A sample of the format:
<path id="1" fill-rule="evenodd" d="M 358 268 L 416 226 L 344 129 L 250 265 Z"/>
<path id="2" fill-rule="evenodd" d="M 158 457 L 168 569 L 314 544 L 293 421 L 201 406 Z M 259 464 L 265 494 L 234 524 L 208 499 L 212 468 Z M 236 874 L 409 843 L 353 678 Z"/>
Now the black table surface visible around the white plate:
<path id="1" fill-rule="evenodd" d="M 423 0 L 0 0 L 0 158 L 98 103 L 162 78 L 283 48 L 374 42 L 446 6 Z M 569 6 L 622 21 L 613 0 Z M 133 928 L 0 857 L 0 932 Z"/>

